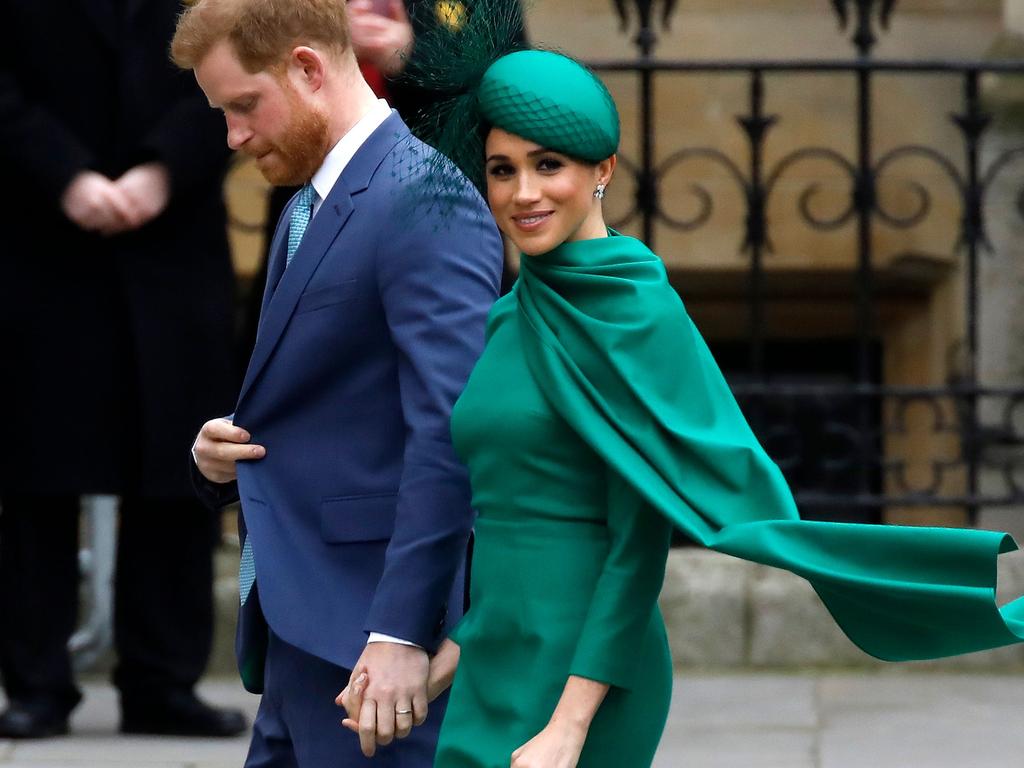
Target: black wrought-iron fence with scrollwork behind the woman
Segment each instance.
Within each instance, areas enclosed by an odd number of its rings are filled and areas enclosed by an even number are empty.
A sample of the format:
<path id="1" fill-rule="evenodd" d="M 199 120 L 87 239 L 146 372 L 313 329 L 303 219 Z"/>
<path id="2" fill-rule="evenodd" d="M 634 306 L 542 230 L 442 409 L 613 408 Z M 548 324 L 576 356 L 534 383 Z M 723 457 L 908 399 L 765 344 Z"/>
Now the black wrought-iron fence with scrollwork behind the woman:
<path id="1" fill-rule="evenodd" d="M 881 60 L 871 56 L 877 28 L 885 28 L 895 11 L 895 1 L 833 0 L 842 27 L 853 26 L 857 55 L 836 60 L 718 60 L 655 59 L 655 15 L 667 23 L 674 0 L 655 7 L 651 0 L 627 4 L 616 0 L 624 29 L 638 29 L 637 56 L 627 60 L 592 60 L 601 72 L 635 76 L 638 87 L 638 157 L 622 158 L 621 173 L 632 176 L 635 196 L 630 210 L 617 222 L 640 231 L 657 250 L 655 238 L 667 230 L 699 234 L 716 205 L 716 191 L 692 180 L 690 191 L 696 212 L 689 217 L 670 213 L 665 180 L 670 172 L 699 159 L 719 167 L 731 179 L 744 208 L 741 250 L 746 259 L 745 359 L 723 362 L 730 381 L 767 450 L 793 484 L 798 503 L 811 516 L 823 514 L 848 519 L 877 519 L 886 508 L 962 507 L 972 517 L 985 506 L 1024 505 L 1024 372 L 1009 385 L 986 385 L 979 375 L 979 316 L 985 296 L 979 284 L 981 260 L 994 251 L 989 237 L 988 194 L 996 182 L 1012 180 L 1020 189 L 1013 215 L 1024 216 L 1024 140 L 1021 146 L 983 155 L 991 116 L 982 98 L 982 78 L 988 73 L 1024 76 L 1024 62 Z M 823 11 L 827 10 L 823 7 Z M 655 82 L 671 78 L 721 76 L 742 78 L 746 104 L 736 115 L 744 152 L 717 145 L 668 146 L 685 139 L 673 132 L 658 133 Z M 765 106 L 766 83 L 795 77 L 841 77 L 854 85 L 849 103 L 849 131 L 842 142 L 821 143 L 790 151 L 781 157 L 768 152 L 772 137 L 784 133 L 786 116 L 769 114 Z M 955 126 L 958 141 L 950 145 L 906 143 L 879 152 L 873 94 L 880 78 L 930 77 L 958 83 L 956 103 L 940 104 Z M 1022 81 L 1024 82 L 1024 81 Z M 829 137 L 831 138 L 831 137 Z M 850 140 L 852 139 L 852 144 Z M 660 150 L 655 153 L 655 146 Z M 849 146 L 854 152 L 849 152 Z M 843 147 L 843 148 L 841 148 Z M 657 158 L 664 158 L 658 160 Z M 983 157 L 987 159 L 983 163 Z M 780 182 L 798 164 L 813 160 L 829 164 L 848 183 L 849 194 L 840 210 L 825 216 L 813 201 L 819 189 L 809 182 L 799 195 L 803 225 L 815 230 L 848 232 L 855 238 L 854 288 L 850 311 L 855 333 L 843 349 L 848 375 L 826 383 L 773 380 L 773 357 L 784 355 L 777 339 L 766 337 L 766 276 L 771 273 L 773 221 L 769 204 Z M 903 179 L 913 201 L 910 210 L 890 210 L 879 194 L 887 173 L 900 163 L 929 163 L 937 173 L 921 179 Z M 909 230 L 929 226 L 936 177 L 955 189 L 959 208 L 958 239 L 951 260 L 963 276 L 963 349 L 958 364 L 938 385 L 893 386 L 880 372 L 880 328 L 877 234 L 880 228 Z M 668 228 L 668 229 L 666 229 Z M 1024 299 L 1024 287 L 1020 296 Z M 1020 307 L 1024 311 L 1024 306 Z M 1024 344 L 1024 339 L 1021 339 Z M 783 345 L 784 346 L 784 345 Z M 714 345 L 713 345 L 714 348 Z M 835 352 L 836 349 L 833 349 Z M 716 350 L 718 352 L 718 350 Z M 735 349 L 723 350 L 730 357 Z M 842 378 L 842 377 L 841 377 Z M 947 446 L 926 457 L 893 447 L 906 437 L 908 414 L 930 423 L 930 439 Z M 916 463 L 918 471 L 908 471 Z"/>

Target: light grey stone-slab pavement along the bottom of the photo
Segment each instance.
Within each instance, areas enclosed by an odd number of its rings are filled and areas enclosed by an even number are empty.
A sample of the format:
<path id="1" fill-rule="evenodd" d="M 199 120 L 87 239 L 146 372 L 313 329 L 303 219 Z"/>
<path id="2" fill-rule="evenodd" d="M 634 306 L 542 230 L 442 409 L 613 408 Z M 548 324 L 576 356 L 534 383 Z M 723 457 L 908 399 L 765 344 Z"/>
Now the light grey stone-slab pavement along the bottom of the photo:
<path id="1" fill-rule="evenodd" d="M 85 690 L 71 736 L 0 741 L 0 768 L 239 768 L 245 759 L 247 736 L 121 736 L 113 689 Z M 201 690 L 255 714 L 257 697 L 233 680 Z M 1022 721 L 1022 675 L 683 672 L 654 768 L 1013 768 L 1024 765 Z"/>

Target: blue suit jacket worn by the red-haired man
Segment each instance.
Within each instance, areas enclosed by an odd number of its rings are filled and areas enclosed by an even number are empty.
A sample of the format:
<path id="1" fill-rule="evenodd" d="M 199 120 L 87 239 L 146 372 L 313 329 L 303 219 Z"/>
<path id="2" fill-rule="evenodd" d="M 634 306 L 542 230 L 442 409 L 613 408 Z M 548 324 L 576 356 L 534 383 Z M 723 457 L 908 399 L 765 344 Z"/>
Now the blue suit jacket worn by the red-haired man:
<path id="1" fill-rule="evenodd" d="M 294 201 L 279 223 L 234 413 L 266 447 L 238 465 L 258 595 L 240 662 L 260 608 L 282 639 L 347 669 L 370 631 L 432 650 L 461 617 L 473 512 L 449 418 L 483 346 L 502 244 L 468 181 L 437 183 L 432 154 L 392 113 L 287 270 Z M 211 485 L 208 498 L 229 493 Z"/>

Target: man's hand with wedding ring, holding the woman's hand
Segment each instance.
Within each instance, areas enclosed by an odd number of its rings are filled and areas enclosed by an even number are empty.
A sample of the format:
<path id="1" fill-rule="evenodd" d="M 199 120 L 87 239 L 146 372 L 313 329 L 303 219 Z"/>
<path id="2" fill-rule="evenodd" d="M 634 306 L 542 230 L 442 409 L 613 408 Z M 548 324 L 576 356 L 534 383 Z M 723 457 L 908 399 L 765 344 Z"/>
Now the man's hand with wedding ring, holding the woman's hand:
<path id="1" fill-rule="evenodd" d="M 358 713 L 359 746 L 368 758 L 377 745 L 404 738 L 427 719 L 430 658 L 423 648 L 369 643 L 352 670 L 348 688 L 335 699 L 351 719 Z M 352 695 L 354 693 L 354 695 Z"/>

